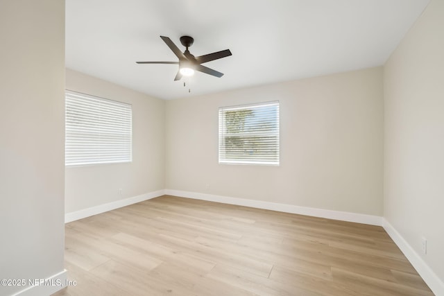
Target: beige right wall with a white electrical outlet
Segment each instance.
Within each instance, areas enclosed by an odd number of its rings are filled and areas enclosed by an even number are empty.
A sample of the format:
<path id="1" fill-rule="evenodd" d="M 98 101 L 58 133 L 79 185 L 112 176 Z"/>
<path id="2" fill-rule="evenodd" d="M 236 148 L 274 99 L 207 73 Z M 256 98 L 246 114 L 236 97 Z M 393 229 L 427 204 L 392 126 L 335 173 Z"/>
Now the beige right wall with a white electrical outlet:
<path id="1" fill-rule="evenodd" d="M 444 281 L 444 1 L 386 63 L 384 100 L 384 217 Z"/>

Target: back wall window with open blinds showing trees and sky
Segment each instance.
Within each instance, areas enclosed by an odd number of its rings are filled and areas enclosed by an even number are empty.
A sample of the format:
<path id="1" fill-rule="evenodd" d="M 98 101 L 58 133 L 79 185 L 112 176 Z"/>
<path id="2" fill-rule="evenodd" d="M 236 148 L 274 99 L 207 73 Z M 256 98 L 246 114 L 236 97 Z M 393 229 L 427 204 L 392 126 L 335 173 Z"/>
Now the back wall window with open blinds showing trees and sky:
<path id="1" fill-rule="evenodd" d="M 279 102 L 219 108 L 219 164 L 279 165 Z"/>

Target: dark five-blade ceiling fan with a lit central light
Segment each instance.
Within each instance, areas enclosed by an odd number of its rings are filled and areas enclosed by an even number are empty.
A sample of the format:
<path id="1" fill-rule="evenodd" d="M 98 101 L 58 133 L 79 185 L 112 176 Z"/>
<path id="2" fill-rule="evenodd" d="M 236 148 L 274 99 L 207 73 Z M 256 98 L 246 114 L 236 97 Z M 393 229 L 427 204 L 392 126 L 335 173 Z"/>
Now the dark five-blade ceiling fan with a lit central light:
<path id="1" fill-rule="evenodd" d="M 199 71 L 202 73 L 207 73 L 212 76 L 222 77 L 223 73 L 218 72 L 216 70 L 210 69 L 208 67 L 203 66 L 202 64 L 205 62 L 210 62 L 212 60 L 218 60 L 220 58 L 225 58 L 231 55 L 230 49 L 225 49 L 225 51 L 217 51 L 215 53 L 208 53 L 207 55 L 200 55 L 195 57 L 192 55 L 188 48 L 193 45 L 194 39 L 189 36 L 180 37 L 180 43 L 185 46 L 185 51 L 182 53 L 178 46 L 174 44 L 169 37 L 160 36 L 162 40 L 168 45 L 169 49 L 173 51 L 173 53 L 178 57 L 178 62 L 137 62 L 137 64 L 178 64 L 179 71 L 176 74 L 174 80 L 180 80 L 182 76 L 192 76 L 194 71 Z"/>

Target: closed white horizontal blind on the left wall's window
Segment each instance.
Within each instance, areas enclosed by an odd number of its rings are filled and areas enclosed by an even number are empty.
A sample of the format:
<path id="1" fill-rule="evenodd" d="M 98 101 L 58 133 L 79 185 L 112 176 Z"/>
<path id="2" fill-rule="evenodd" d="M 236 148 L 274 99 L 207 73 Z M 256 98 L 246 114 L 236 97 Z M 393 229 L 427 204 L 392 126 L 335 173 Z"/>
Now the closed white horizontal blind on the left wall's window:
<path id="1" fill-rule="evenodd" d="M 65 165 L 131 162 L 132 105 L 65 92 Z"/>

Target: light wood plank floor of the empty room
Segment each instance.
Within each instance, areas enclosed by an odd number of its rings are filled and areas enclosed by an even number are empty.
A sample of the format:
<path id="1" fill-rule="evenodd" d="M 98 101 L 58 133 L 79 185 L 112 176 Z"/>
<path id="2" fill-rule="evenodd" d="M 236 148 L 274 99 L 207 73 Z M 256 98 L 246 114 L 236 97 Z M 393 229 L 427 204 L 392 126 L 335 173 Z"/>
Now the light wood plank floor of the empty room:
<path id="1" fill-rule="evenodd" d="M 66 225 L 62 295 L 433 295 L 382 227 L 162 196 Z"/>

